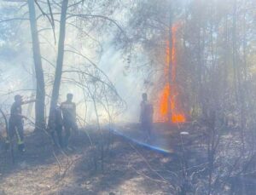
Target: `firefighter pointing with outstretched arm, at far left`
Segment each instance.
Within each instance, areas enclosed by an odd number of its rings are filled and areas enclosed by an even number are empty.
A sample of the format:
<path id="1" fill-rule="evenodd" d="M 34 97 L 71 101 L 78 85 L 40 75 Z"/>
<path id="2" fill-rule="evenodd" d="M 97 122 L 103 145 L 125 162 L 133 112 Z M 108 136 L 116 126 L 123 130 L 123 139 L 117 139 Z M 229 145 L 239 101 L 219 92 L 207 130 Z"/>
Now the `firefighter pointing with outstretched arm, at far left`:
<path id="1" fill-rule="evenodd" d="M 9 118 L 9 129 L 8 137 L 10 140 L 13 139 L 14 135 L 17 136 L 18 149 L 20 152 L 25 152 L 24 146 L 24 118 L 22 115 L 22 105 L 35 102 L 36 100 L 23 101 L 21 95 L 15 95 L 15 102 L 11 106 L 10 118 Z M 7 143 L 9 143 L 9 139 Z"/>

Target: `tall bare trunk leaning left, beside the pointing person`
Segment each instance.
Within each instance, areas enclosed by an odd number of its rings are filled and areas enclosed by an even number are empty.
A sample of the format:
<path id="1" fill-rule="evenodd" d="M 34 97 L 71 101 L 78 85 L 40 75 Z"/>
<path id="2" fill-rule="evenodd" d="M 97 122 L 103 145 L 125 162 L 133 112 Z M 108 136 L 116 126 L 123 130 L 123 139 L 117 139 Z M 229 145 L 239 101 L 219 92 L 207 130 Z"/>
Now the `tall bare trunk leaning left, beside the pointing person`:
<path id="1" fill-rule="evenodd" d="M 36 11 L 34 0 L 28 0 L 28 9 L 29 9 L 29 19 L 31 26 L 32 34 L 32 50 L 33 50 L 33 59 L 35 65 L 35 73 L 37 77 L 37 101 L 35 104 L 36 111 L 36 130 L 45 128 L 45 119 L 44 119 L 44 99 L 45 99 L 45 89 L 44 89 L 44 72 L 42 67 L 40 45 L 38 39 L 38 26 L 36 19 Z"/>

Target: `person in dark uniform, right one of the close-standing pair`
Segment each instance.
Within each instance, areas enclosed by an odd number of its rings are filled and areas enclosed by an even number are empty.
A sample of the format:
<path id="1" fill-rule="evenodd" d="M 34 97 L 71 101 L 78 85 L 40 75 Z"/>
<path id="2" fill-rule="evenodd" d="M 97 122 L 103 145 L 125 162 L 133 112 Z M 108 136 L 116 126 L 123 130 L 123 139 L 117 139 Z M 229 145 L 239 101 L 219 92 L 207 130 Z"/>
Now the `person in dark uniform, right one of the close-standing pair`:
<path id="1" fill-rule="evenodd" d="M 76 105 L 72 102 L 72 100 L 73 94 L 67 94 L 67 100 L 61 103 L 63 126 L 65 129 L 63 144 L 66 147 L 68 146 L 71 129 L 74 131 L 78 131 L 78 125 L 76 123 Z"/>

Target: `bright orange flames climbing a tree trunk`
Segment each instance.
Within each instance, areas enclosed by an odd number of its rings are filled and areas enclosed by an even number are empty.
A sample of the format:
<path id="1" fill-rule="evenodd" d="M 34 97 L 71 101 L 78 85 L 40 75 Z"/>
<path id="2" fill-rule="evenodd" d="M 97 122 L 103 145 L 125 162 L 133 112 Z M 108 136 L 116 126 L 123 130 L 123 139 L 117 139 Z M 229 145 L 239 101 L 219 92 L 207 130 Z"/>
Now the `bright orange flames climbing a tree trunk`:
<path id="1" fill-rule="evenodd" d="M 166 86 L 160 93 L 159 110 L 157 111 L 161 122 L 172 120 L 172 123 L 183 123 L 186 121 L 183 111 L 177 106 L 179 103 L 176 83 L 177 27 L 177 25 L 172 26 L 172 49 L 170 49 L 169 41 L 166 42 Z M 172 51 L 171 54 L 170 51 Z"/>

